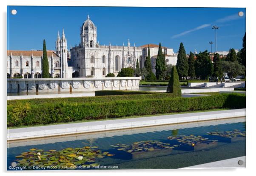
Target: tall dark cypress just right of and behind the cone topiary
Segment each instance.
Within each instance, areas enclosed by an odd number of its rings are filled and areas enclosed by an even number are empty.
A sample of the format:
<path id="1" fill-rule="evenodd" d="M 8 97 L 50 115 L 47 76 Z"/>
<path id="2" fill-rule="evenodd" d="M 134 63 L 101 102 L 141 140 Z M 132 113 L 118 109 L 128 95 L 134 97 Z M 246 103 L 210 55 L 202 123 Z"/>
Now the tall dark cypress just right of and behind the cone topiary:
<path id="1" fill-rule="evenodd" d="M 179 74 L 179 79 L 184 79 L 184 77 L 188 76 L 188 59 L 186 56 L 185 48 L 182 43 L 180 43 L 179 45 L 176 69 Z"/>

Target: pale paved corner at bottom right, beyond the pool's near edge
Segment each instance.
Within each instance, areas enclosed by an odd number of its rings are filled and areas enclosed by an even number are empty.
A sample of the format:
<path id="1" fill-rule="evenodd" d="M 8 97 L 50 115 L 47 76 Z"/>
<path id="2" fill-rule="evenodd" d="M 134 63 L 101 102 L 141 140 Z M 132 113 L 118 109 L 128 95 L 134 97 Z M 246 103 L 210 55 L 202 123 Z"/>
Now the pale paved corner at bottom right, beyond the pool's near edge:
<path id="1" fill-rule="evenodd" d="M 231 158 L 231 159 L 225 159 L 221 161 L 216 161 L 216 162 L 208 162 L 202 165 L 193 165 L 187 168 L 182 168 L 182 169 L 199 169 L 199 168 L 245 168 L 245 156 L 243 157 L 237 157 L 237 158 Z M 240 161 L 240 164 L 238 164 L 238 161 Z"/>

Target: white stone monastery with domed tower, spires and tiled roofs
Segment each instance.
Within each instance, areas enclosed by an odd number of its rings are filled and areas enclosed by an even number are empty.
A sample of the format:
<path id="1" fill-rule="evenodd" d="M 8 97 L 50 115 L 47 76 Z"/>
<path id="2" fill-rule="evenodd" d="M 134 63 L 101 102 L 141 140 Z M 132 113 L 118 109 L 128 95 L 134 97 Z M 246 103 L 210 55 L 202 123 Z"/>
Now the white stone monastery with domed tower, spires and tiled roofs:
<path id="1" fill-rule="evenodd" d="M 108 73 L 116 76 L 122 68 L 143 68 L 150 48 L 152 71 L 155 73 L 157 44 L 145 44 L 140 47 L 100 45 L 97 42 L 97 27 L 89 15 L 80 28 L 80 44 L 70 47 L 63 30 L 62 37 L 58 32 L 55 51 L 47 51 L 49 74 L 51 77 L 105 77 Z M 162 47 L 165 51 L 166 64 L 176 65 L 177 53 L 172 48 Z M 7 78 L 40 78 L 42 74 L 43 51 L 7 51 Z"/>

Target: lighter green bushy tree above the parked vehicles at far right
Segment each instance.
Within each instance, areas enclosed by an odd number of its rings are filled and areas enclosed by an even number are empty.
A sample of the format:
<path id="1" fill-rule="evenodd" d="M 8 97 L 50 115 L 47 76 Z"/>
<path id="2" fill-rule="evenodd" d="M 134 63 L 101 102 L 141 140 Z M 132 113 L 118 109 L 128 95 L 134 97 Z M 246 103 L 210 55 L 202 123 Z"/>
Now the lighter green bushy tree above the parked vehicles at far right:
<path id="1" fill-rule="evenodd" d="M 228 77 L 236 77 L 237 75 L 245 74 L 245 66 L 242 66 L 238 63 L 238 61 L 230 62 L 223 61 L 222 62 L 222 70 L 228 73 Z"/>

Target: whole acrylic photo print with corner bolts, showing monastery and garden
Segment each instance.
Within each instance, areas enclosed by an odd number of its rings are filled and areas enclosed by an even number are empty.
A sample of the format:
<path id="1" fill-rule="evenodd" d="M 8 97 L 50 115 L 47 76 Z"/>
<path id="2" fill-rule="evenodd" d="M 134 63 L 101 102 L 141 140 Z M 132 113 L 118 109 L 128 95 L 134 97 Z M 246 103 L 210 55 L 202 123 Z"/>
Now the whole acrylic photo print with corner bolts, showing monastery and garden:
<path id="1" fill-rule="evenodd" d="M 7 36 L 7 170 L 245 168 L 245 8 L 8 6 Z"/>

